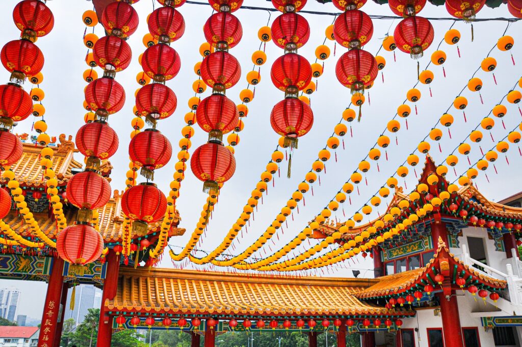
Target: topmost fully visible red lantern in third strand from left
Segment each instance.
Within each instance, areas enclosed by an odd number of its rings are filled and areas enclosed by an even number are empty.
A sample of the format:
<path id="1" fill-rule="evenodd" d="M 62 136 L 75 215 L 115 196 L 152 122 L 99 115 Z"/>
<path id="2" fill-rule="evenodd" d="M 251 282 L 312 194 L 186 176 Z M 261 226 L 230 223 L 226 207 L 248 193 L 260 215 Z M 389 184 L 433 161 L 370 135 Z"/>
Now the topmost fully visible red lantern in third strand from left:
<path id="1" fill-rule="evenodd" d="M 170 43 L 183 36 L 185 19 L 173 7 L 164 6 L 155 9 L 148 20 L 150 34 L 159 42 Z"/>

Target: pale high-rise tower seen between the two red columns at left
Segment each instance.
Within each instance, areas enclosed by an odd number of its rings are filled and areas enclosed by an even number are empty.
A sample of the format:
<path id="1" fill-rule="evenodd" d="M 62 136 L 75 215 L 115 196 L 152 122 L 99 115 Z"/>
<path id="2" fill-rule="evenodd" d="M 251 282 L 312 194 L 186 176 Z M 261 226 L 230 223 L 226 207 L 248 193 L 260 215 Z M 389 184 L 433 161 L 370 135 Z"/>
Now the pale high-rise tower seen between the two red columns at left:
<path id="1" fill-rule="evenodd" d="M 75 291 L 75 305 L 74 310 L 70 309 L 70 300 L 73 291 L 67 294 L 67 305 L 65 307 L 65 319 L 73 318 L 75 325 L 84 321 L 89 308 L 100 308 L 101 306 L 101 291 L 92 286 L 81 284 L 76 287 Z"/>

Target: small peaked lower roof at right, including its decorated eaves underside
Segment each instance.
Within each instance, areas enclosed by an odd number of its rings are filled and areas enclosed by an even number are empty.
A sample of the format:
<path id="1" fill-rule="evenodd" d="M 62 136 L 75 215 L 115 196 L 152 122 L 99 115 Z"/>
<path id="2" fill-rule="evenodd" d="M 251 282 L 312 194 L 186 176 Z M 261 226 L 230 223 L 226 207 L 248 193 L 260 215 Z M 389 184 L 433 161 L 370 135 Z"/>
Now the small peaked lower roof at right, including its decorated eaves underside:
<path id="1" fill-rule="evenodd" d="M 490 289 L 505 288 L 507 282 L 498 280 L 493 277 L 482 274 L 472 267 L 468 267 L 460 259 L 449 252 L 446 244 L 439 238 L 438 248 L 435 255 L 428 264 L 424 267 L 410 270 L 406 272 L 396 273 L 393 275 L 378 277 L 378 282 L 374 285 L 365 288 L 361 292 L 355 294 L 359 298 L 375 298 L 389 295 L 397 295 L 414 290 L 419 286 L 419 290 L 426 284 L 431 284 L 437 290 L 440 285 L 434 282 L 433 278 L 436 274 L 442 273 L 447 283 L 443 286 L 450 290 L 459 288 L 455 284 L 456 277 L 466 279 L 466 286 L 471 284 L 476 286 L 485 286 Z"/>

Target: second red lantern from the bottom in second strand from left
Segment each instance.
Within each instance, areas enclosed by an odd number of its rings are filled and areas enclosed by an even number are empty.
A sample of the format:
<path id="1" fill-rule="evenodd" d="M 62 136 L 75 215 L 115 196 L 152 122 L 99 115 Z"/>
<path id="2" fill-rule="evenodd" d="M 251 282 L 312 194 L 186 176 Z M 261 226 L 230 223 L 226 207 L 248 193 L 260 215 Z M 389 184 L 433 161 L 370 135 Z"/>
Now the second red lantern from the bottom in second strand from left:
<path id="1" fill-rule="evenodd" d="M 78 219 L 90 222 L 92 210 L 103 207 L 111 198 L 111 185 L 98 171 L 86 169 L 67 182 L 67 199 L 80 209 Z"/>

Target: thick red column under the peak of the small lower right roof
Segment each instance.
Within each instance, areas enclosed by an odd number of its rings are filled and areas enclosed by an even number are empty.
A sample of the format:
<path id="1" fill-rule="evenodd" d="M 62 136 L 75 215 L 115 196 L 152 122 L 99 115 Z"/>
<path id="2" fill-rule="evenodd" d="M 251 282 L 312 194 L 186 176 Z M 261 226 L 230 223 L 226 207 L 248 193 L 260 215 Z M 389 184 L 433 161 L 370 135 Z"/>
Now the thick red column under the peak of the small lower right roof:
<path id="1" fill-rule="evenodd" d="M 455 291 L 452 291 L 449 300 L 446 299 L 443 293 L 437 293 L 437 295 L 441 302 L 444 347 L 464 347 Z"/>

